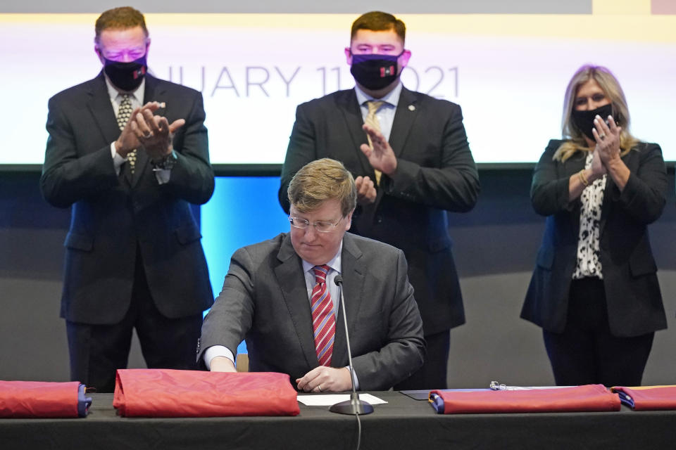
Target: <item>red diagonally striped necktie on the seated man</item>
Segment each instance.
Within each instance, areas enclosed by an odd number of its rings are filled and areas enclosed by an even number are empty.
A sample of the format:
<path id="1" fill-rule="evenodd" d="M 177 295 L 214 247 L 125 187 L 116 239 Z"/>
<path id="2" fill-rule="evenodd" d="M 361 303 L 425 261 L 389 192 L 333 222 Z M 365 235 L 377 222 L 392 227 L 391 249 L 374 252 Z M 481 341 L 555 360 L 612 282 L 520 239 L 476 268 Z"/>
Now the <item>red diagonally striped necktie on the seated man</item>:
<path id="1" fill-rule="evenodd" d="M 333 302 L 326 285 L 329 266 L 314 266 L 315 281 L 312 289 L 312 328 L 315 335 L 315 351 L 320 366 L 330 366 L 333 354 L 333 339 L 336 335 L 336 318 L 333 314 Z"/>

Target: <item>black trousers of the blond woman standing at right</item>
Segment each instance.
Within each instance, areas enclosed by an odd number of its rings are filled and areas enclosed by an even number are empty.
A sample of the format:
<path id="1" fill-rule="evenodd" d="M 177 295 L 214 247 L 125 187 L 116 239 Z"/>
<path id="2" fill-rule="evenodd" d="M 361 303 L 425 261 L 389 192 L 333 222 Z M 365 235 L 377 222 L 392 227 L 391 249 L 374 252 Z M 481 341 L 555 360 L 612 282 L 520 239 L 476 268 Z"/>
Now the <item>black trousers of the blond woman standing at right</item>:
<path id="1" fill-rule="evenodd" d="M 599 278 L 573 280 L 563 333 L 543 330 L 556 384 L 640 386 L 655 333 L 613 336 Z"/>

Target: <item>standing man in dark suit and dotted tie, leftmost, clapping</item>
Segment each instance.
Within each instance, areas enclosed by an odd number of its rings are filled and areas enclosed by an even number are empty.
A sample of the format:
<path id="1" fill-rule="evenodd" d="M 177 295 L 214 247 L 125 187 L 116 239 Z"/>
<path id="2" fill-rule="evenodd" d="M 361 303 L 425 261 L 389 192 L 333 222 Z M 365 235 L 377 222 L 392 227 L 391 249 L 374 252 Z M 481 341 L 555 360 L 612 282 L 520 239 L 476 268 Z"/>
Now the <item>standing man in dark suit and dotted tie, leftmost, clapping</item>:
<path id="1" fill-rule="evenodd" d="M 72 206 L 61 316 L 70 376 L 112 392 L 136 328 L 150 368 L 194 368 L 213 294 L 190 203 L 213 193 L 199 92 L 146 74 L 142 13 L 96 20 L 94 79 L 49 100 L 40 187 Z"/>

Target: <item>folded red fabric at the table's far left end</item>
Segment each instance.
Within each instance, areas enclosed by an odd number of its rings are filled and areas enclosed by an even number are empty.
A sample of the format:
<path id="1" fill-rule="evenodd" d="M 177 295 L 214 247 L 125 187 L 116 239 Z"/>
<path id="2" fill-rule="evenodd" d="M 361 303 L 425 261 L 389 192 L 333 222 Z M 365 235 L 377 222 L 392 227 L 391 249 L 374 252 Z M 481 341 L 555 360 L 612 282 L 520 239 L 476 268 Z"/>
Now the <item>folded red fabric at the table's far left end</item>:
<path id="1" fill-rule="evenodd" d="M 80 383 L 0 381 L 0 417 L 78 417 Z"/>

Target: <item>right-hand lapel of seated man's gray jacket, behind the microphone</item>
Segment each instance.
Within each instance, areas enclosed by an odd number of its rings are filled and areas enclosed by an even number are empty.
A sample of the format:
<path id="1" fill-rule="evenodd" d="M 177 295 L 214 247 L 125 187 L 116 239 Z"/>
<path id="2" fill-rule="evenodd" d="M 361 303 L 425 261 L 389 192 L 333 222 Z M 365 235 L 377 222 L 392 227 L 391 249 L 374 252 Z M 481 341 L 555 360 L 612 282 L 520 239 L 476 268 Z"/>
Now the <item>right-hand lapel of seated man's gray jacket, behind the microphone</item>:
<path id="1" fill-rule="evenodd" d="M 343 277 L 343 296 L 345 310 L 347 311 L 347 326 L 350 335 L 356 333 L 356 318 L 361 307 L 364 288 L 365 266 L 361 250 L 354 243 L 353 236 L 345 233 L 343 238 L 343 251 L 341 255 L 341 274 Z M 334 299 L 340 302 L 340 298 Z M 332 366 L 347 364 L 347 340 L 345 338 L 344 325 L 345 311 L 338 309 L 336 318 L 336 338 L 333 343 Z"/>

